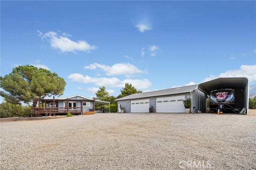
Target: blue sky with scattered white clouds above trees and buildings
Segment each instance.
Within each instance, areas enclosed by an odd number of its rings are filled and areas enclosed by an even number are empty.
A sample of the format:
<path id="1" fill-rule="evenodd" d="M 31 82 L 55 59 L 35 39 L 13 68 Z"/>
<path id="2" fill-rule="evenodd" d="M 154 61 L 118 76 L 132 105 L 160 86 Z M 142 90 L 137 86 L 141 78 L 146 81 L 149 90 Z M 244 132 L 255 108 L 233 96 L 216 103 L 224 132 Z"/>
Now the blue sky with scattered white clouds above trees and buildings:
<path id="1" fill-rule="evenodd" d="M 1 1 L 1 76 L 56 72 L 64 95 L 118 96 L 248 77 L 256 84 L 256 1 Z"/>

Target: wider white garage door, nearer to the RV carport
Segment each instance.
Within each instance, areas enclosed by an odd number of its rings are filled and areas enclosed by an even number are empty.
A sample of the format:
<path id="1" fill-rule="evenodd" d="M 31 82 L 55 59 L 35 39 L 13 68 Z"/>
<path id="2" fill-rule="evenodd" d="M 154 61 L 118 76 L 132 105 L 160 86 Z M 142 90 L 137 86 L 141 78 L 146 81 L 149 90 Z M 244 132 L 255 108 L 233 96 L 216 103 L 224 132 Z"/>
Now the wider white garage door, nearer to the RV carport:
<path id="1" fill-rule="evenodd" d="M 157 113 L 185 113 L 183 100 L 185 96 L 156 98 Z"/>

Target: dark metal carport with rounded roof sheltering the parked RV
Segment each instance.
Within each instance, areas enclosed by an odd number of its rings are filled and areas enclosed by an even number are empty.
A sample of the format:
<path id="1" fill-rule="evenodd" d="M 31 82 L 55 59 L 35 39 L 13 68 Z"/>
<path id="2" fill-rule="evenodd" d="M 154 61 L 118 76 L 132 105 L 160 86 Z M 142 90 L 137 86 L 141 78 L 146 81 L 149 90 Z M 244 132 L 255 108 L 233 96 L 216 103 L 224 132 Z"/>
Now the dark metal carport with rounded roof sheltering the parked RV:
<path id="1" fill-rule="evenodd" d="M 198 84 L 198 90 L 209 95 L 213 90 L 219 89 L 234 89 L 240 90 L 239 96 L 242 96 L 241 101 L 238 105 L 246 109 L 248 114 L 248 102 L 249 102 L 249 82 L 248 78 L 236 77 L 236 78 L 217 78 L 208 82 Z M 236 99 L 235 99 L 236 100 Z"/>

